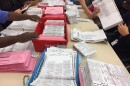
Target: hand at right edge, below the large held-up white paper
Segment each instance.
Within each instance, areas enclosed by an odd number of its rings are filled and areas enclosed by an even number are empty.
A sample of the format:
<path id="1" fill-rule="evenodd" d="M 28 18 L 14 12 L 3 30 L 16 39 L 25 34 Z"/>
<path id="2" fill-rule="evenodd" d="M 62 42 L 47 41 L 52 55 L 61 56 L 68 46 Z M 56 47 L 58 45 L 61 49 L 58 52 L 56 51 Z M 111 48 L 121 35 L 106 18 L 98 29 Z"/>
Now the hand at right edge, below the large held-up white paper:
<path id="1" fill-rule="evenodd" d="M 118 31 L 119 31 L 119 33 L 120 33 L 122 36 L 126 36 L 126 35 L 129 34 L 129 30 L 128 30 L 128 27 L 126 26 L 126 24 L 125 24 L 125 25 L 119 24 L 119 25 L 118 25 Z"/>

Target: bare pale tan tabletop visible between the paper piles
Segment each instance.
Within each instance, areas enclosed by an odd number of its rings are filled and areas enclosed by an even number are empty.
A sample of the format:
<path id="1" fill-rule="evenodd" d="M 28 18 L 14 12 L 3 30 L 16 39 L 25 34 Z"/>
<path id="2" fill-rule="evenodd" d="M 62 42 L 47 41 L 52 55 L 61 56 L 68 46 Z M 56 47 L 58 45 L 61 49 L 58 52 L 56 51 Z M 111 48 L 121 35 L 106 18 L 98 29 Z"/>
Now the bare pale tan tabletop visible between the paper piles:
<path id="1" fill-rule="evenodd" d="M 80 16 L 83 18 L 86 18 L 86 15 L 84 11 L 80 10 Z M 98 27 L 96 24 L 93 23 L 93 21 L 88 22 L 79 22 L 77 24 L 68 24 L 68 32 L 69 32 L 69 42 L 67 47 L 72 48 L 73 43 L 70 40 L 70 30 L 72 30 L 74 27 L 79 28 L 81 31 L 94 31 L 98 30 Z M 117 64 L 124 66 L 116 53 L 113 51 L 109 43 L 94 43 L 90 44 L 95 50 L 96 54 L 91 57 L 90 59 L 110 63 L 110 64 Z M 130 76 L 129 73 L 126 70 L 127 76 Z M 0 73 L 0 86 L 23 86 L 23 77 L 25 75 L 30 75 L 28 73 Z"/>

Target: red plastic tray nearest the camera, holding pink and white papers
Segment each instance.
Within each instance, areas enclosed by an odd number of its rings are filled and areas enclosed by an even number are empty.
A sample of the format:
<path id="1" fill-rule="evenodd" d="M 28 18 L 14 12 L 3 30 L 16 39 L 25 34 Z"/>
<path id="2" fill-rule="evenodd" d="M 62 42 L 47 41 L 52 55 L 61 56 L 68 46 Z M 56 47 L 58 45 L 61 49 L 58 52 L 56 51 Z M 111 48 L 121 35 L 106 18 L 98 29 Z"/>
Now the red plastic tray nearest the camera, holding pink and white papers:
<path id="1" fill-rule="evenodd" d="M 46 22 L 46 20 L 64 20 L 65 22 L 65 41 L 63 40 L 38 40 L 35 39 L 33 40 L 33 44 L 34 44 L 34 48 L 35 51 L 37 52 L 43 52 L 44 49 L 46 49 L 47 47 L 50 46 L 57 46 L 57 45 L 64 45 L 66 46 L 68 43 L 68 29 L 67 29 L 67 23 L 66 23 L 66 17 L 42 17 L 42 23 L 38 23 L 35 32 L 40 35 L 43 32 L 44 29 L 44 23 Z"/>

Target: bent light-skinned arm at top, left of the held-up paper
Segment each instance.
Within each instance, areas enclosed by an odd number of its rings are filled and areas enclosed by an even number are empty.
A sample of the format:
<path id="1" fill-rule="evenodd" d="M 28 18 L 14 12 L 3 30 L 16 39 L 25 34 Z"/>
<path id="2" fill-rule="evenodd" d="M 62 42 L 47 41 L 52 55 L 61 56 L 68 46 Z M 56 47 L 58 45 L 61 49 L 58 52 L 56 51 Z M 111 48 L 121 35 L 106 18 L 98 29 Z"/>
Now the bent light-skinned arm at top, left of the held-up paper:
<path id="1" fill-rule="evenodd" d="M 94 11 L 92 12 L 86 5 L 85 0 L 78 0 L 85 11 L 86 15 L 88 16 L 89 19 L 93 19 L 97 17 L 97 14 L 100 12 L 100 9 L 98 7 L 94 7 Z"/>

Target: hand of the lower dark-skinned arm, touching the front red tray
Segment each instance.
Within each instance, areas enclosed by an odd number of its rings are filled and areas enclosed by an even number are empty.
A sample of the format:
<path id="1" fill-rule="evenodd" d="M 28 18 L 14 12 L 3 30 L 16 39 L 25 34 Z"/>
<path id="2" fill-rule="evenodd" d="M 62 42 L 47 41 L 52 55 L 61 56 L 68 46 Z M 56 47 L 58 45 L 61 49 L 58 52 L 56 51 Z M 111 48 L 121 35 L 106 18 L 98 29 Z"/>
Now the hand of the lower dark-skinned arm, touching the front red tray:
<path id="1" fill-rule="evenodd" d="M 18 35 L 17 37 L 18 37 L 18 39 L 16 39 L 16 40 L 18 40 L 18 42 L 24 43 L 24 42 L 30 41 L 32 39 L 38 38 L 38 35 L 34 32 L 26 32 L 21 35 Z"/>

